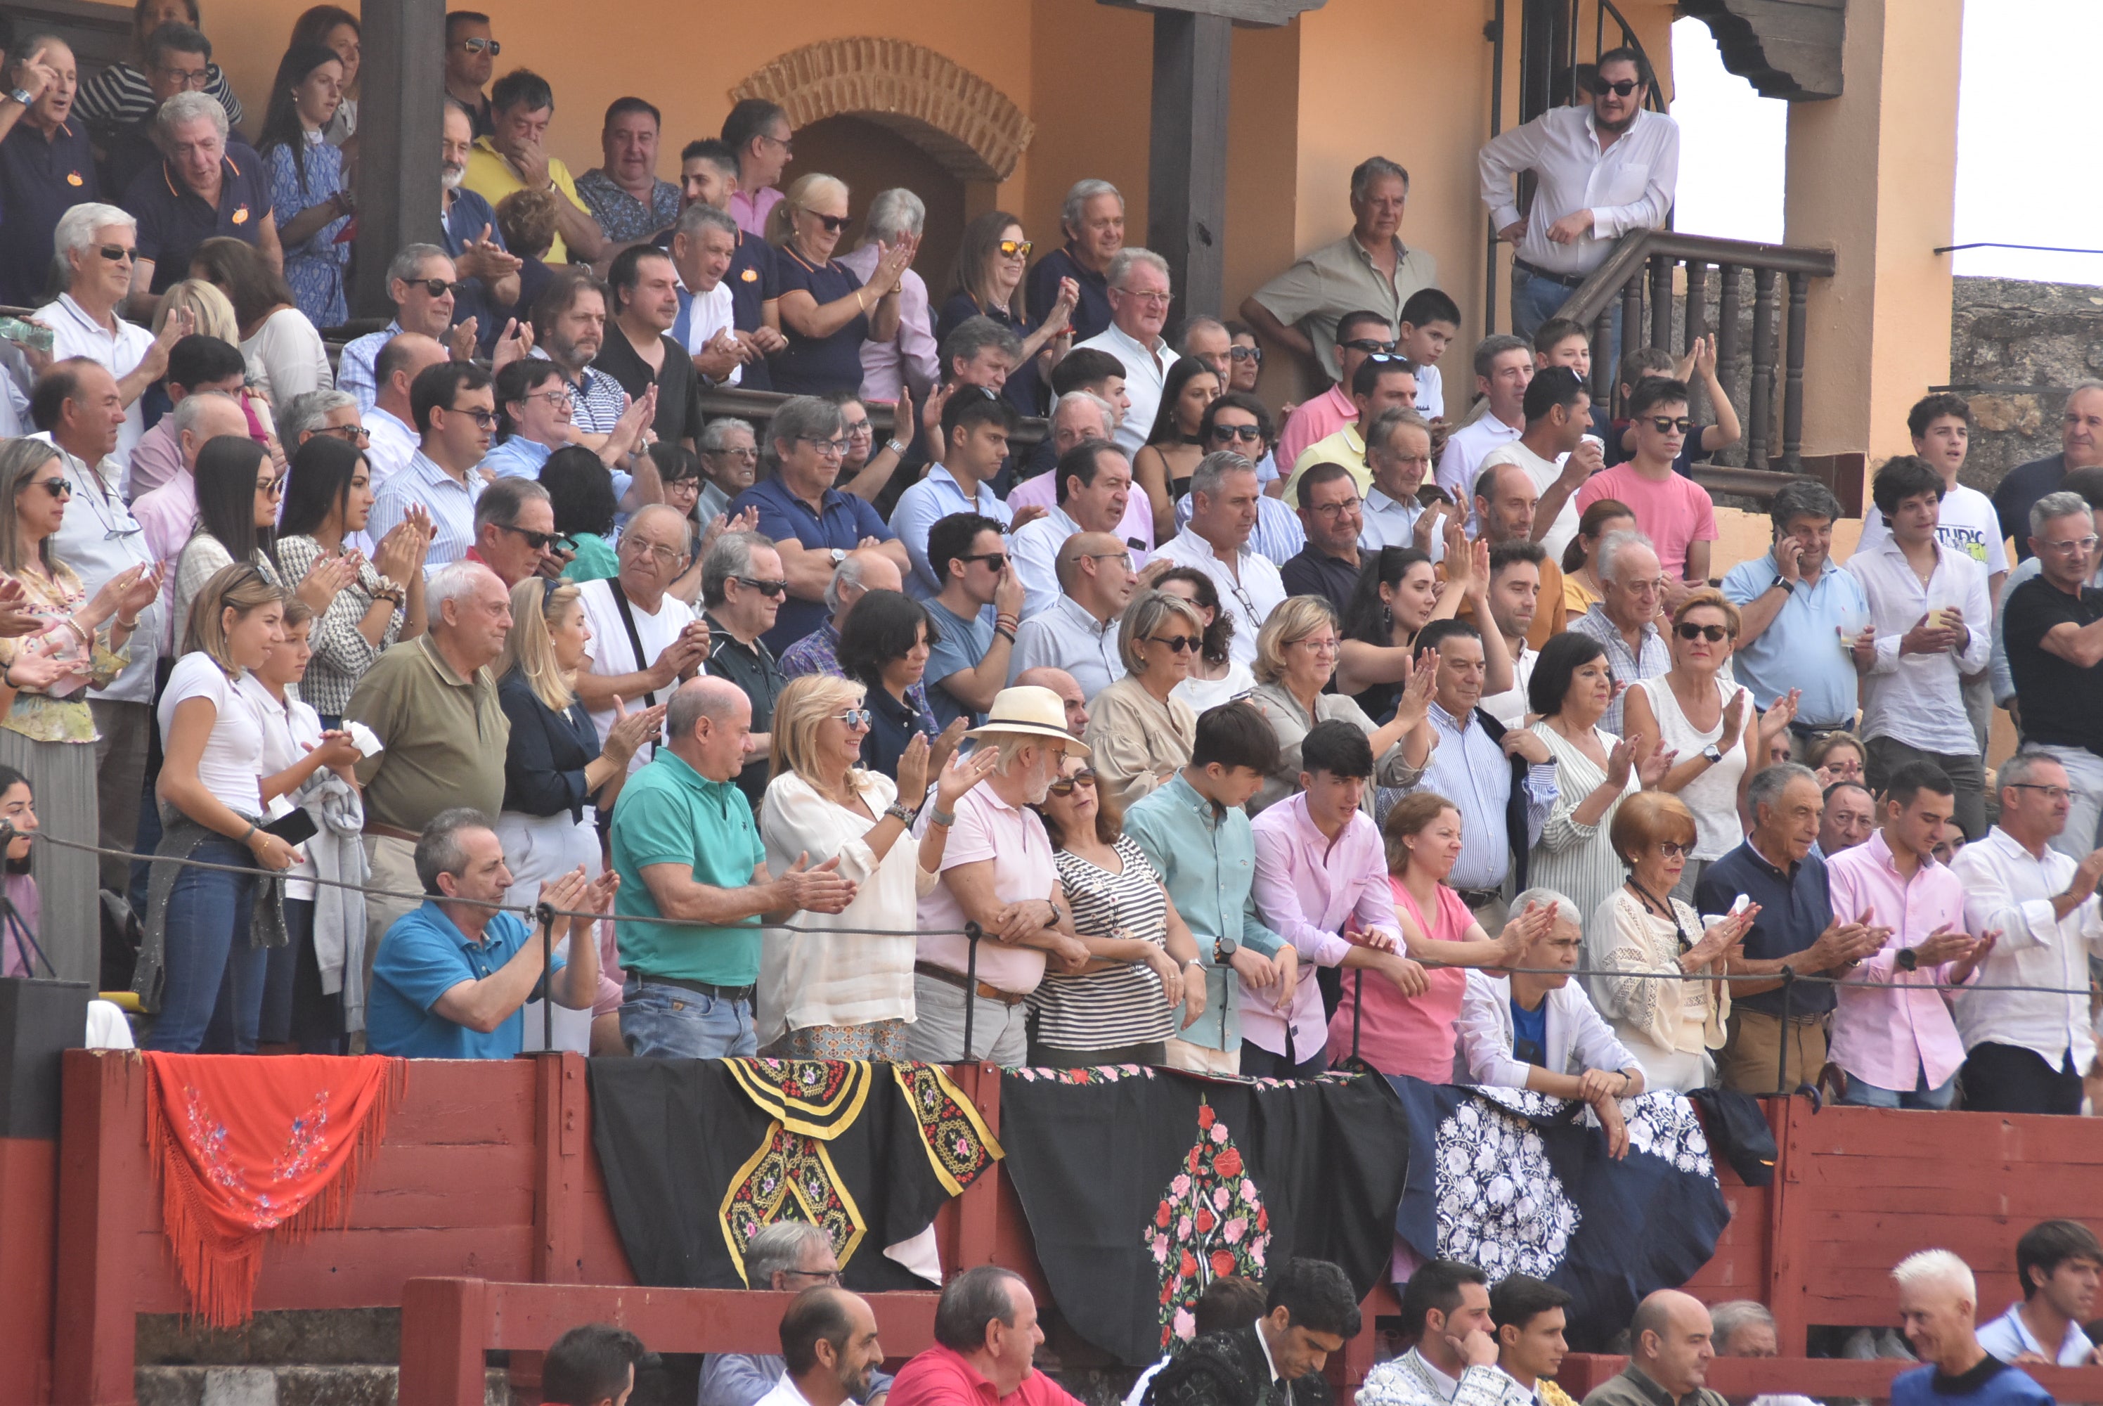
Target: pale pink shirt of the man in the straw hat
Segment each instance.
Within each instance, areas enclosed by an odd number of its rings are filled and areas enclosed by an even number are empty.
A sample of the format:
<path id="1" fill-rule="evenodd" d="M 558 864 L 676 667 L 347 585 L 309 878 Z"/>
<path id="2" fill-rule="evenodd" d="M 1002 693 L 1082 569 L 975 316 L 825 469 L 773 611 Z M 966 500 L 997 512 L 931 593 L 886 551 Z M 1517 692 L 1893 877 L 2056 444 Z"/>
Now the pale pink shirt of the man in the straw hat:
<path id="1" fill-rule="evenodd" d="M 927 833 L 927 819 L 934 806 L 919 812 L 915 836 Z M 957 823 L 948 829 L 948 846 L 942 850 L 942 873 L 957 865 L 991 859 L 993 892 L 1001 903 L 1022 903 L 1024 899 L 1049 899 L 1058 884 L 1058 865 L 1052 863 L 1052 836 L 1035 810 L 1018 810 L 1001 800 L 991 785 L 974 785 L 957 802 Z M 972 943 L 957 935 L 927 932 L 925 928 L 961 928 L 963 905 L 951 892 L 944 878 L 927 897 L 919 901 L 919 960 L 946 966 L 953 972 L 967 970 Z M 1045 979 L 1045 953 L 1041 947 L 1007 947 L 991 937 L 978 943 L 978 979 L 1009 996 L 1028 996 Z"/>

